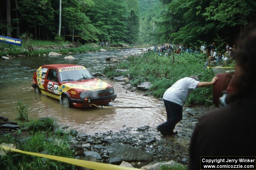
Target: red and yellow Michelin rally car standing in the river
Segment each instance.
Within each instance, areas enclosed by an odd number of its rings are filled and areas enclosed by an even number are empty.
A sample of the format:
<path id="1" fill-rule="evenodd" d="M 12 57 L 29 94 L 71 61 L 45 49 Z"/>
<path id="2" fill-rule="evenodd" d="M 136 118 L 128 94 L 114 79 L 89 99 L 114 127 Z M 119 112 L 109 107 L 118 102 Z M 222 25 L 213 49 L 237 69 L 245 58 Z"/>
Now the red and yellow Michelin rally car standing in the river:
<path id="1" fill-rule="evenodd" d="M 117 97 L 111 85 L 95 78 L 84 66 L 74 64 L 39 67 L 32 87 L 36 93 L 58 99 L 66 107 L 105 105 Z"/>

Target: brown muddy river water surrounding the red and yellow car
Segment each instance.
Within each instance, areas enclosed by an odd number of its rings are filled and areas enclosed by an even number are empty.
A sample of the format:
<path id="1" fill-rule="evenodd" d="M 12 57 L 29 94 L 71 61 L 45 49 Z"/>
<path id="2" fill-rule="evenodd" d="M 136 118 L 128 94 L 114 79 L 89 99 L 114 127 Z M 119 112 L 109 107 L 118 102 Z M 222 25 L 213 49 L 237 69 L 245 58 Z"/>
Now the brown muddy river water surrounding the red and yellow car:
<path id="1" fill-rule="evenodd" d="M 127 92 L 119 82 L 107 78 L 104 81 L 114 86 L 117 98 L 111 106 L 156 106 L 145 109 L 77 109 L 65 108 L 58 100 L 36 94 L 31 87 L 32 76 L 38 67 L 45 64 L 79 64 L 91 72 L 101 72 L 106 57 L 114 56 L 125 60 L 124 55 L 140 53 L 136 48 L 73 54 L 76 60 L 64 60 L 57 57 L 23 57 L 0 61 L 0 115 L 15 120 L 16 102 L 22 101 L 29 105 L 29 118 L 52 116 L 61 125 L 73 127 L 88 134 L 105 131 L 118 131 L 126 127 L 142 125 L 156 126 L 166 119 L 165 109 L 158 107 L 161 101 L 154 97 L 143 97 L 141 92 Z M 101 77 L 99 77 L 101 78 Z M 126 125 L 126 127 L 123 127 Z"/>

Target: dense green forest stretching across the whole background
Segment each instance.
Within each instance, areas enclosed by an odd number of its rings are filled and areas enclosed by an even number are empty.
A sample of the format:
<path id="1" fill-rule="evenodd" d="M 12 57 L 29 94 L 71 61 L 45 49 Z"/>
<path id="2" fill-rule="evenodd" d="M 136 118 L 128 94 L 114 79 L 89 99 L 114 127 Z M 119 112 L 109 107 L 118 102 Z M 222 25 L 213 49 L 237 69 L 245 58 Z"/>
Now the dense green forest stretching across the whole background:
<path id="1" fill-rule="evenodd" d="M 256 21 L 248 0 L 1 0 L 0 34 L 117 43 L 233 43 Z M 65 37 L 66 39 L 70 37 Z"/>

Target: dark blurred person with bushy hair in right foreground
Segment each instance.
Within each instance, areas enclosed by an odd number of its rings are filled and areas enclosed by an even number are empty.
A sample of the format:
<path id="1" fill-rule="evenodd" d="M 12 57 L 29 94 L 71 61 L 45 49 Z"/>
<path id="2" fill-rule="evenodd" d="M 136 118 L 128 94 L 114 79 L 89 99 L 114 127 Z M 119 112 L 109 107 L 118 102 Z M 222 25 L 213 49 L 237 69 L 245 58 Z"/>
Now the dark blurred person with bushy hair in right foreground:
<path id="1" fill-rule="evenodd" d="M 200 169 L 200 156 L 256 155 L 256 29 L 241 36 L 236 60 L 235 92 L 227 105 L 202 116 L 192 134 L 189 170 Z"/>

